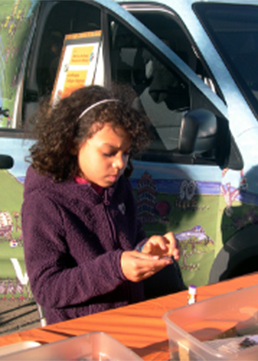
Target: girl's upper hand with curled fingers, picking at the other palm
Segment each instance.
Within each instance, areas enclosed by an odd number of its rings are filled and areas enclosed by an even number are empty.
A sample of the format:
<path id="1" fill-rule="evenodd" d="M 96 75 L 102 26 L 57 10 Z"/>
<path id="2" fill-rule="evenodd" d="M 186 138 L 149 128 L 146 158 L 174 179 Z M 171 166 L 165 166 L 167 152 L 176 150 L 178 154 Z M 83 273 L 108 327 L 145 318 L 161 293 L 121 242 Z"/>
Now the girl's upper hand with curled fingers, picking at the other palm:
<path id="1" fill-rule="evenodd" d="M 143 246 L 143 253 L 162 257 L 172 257 L 177 261 L 180 257 L 178 241 L 172 232 L 164 234 L 164 236 L 154 235 L 148 239 Z"/>

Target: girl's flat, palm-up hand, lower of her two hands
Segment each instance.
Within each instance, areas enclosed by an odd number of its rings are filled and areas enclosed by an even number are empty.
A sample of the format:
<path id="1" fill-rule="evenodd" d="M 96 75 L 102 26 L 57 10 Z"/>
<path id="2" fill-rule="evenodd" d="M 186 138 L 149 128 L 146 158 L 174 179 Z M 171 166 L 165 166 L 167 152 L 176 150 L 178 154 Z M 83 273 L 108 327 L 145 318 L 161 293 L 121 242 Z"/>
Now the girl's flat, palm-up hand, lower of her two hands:
<path id="1" fill-rule="evenodd" d="M 171 264 L 172 259 L 159 259 L 158 256 L 131 250 L 122 253 L 120 263 L 124 276 L 130 281 L 139 282 Z"/>

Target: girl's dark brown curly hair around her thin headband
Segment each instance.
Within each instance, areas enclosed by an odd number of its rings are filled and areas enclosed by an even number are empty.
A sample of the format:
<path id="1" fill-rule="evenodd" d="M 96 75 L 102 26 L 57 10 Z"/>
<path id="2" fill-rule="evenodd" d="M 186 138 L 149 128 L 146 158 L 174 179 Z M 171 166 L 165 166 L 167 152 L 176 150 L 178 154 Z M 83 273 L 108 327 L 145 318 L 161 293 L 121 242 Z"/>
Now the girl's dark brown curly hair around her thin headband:
<path id="1" fill-rule="evenodd" d="M 78 119 L 92 104 L 114 98 L 119 102 L 97 105 Z M 149 121 L 131 107 L 131 100 L 132 92 L 128 88 L 116 87 L 111 91 L 99 85 L 90 85 L 75 90 L 54 107 L 49 99 L 43 101 L 34 117 L 37 141 L 30 148 L 32 167 L 57 182 L 74 178 L 79 174 L 77 154 L 81 145 L 106 123 L 111 123 L 114 129 L 121 127 L 130 135 L 132 155 L 141 151 L 150 140 Z M 93 124 L 97 127 L 92 127 Z M 130 167 L 129 162 L 127 175 Z"/>

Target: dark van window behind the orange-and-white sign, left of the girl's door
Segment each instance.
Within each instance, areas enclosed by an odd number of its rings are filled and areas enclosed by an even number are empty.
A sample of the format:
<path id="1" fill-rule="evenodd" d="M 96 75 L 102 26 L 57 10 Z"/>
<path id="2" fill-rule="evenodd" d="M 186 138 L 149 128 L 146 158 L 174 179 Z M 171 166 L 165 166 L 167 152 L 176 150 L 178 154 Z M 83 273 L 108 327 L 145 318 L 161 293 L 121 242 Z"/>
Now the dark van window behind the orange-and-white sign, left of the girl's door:
<path id="1" fill-rule="evenodd" d="M 43 1 L 25 78 L 23 119 L 51 94 L 66 34 L 101 29 L 100 9 L 83 1 Z M 42 26 L 41 26 L 42 24 Z"/>

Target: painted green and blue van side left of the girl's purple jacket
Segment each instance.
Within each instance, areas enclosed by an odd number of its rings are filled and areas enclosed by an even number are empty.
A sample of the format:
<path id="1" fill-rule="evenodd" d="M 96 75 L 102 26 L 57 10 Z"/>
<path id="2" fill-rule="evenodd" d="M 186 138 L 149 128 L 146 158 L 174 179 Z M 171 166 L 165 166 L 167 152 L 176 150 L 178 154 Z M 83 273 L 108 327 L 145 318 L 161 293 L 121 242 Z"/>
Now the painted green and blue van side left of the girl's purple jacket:
<path id="1" fill-rule="evenodd" d="M 24 262 L 21 205 L 25 162 L 32 140 L 1 138 L 0 152 L 9 149 L 14 167 L 0 170 L 0 301 L 32 299 Z"/>

